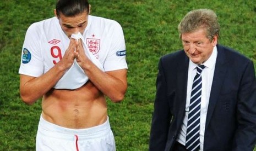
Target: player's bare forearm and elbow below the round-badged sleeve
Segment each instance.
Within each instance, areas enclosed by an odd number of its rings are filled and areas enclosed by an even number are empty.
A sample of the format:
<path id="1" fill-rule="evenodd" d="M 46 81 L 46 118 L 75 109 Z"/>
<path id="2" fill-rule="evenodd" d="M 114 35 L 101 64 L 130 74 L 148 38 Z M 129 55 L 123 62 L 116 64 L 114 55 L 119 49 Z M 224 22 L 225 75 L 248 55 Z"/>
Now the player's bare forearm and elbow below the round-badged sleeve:
<path id="1" fill-rule="evenodd" d="M 31 78 L 20 75 L 20 96 L 26 104 L 33 104 L 45 95 L 64 74 L 64 68 L 58 64 L 40 77 Z"/>

